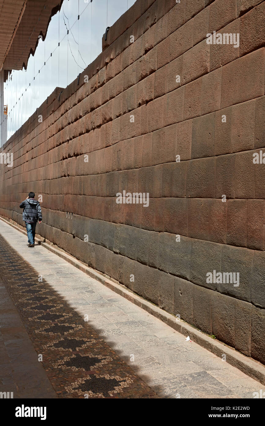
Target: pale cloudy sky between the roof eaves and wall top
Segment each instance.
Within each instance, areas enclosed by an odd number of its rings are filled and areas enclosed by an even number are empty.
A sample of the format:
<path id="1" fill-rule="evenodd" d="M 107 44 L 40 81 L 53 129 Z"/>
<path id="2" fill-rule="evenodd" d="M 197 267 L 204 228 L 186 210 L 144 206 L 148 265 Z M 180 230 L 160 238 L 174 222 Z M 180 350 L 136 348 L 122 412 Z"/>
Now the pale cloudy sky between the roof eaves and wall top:
<path id="1" fill-rule="evenodd" d="M 27 70 L 12 71 L 4 85 L 8 139 L 55 87 L 66 87 L 97 58 L 106 27 L 113 25 L 134 1 L 63 1 L 60 13 L 51 19 L 45 41 L 40 39 L 34 57 L 30 56 Z"/>

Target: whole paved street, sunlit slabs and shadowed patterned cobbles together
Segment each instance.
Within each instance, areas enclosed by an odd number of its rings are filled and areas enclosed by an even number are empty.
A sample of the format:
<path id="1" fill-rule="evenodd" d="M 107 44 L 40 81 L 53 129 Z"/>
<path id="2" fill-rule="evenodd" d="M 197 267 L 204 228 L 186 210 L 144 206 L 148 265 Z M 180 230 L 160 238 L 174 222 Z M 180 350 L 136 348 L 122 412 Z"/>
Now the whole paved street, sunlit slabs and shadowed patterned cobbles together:
<path id="1" fill-rule="evenodd" d="M 43 246 L 28 248 L 26 236 L 3 221 L 0 249 L 0 391 L 14 398 L 253 398 L 265 391 Z"/>

